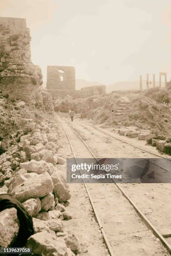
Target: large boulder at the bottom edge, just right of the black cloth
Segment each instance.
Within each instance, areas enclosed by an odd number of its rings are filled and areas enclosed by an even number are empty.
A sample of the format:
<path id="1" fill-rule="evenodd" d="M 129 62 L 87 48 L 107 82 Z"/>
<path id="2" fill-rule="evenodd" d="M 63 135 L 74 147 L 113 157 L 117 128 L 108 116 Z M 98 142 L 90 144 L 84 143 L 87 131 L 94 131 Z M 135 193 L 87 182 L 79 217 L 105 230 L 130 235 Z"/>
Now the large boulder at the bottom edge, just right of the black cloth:
<path id="1" fill-rule="evenodd" d="M 26 247 L 32 248 L 34 255 L 67 256 L 67 246 L 62 239 L 47 231 L 36 233 L 27 240 Z"/>

